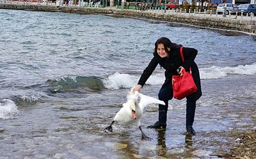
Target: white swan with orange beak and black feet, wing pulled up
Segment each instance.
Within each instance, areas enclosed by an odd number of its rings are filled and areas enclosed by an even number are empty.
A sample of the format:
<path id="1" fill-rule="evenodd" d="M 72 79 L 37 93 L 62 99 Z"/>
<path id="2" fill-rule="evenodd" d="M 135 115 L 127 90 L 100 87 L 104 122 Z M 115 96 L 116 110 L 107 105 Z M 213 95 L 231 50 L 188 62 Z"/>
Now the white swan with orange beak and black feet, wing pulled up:
<path id="1" fill-rule="evenodd" d="M 123 107 L 117 112 L 110 126 L 106 127 L 104 131 L 113 131 L 112 124 L 114 122 L 121 125 L 136 123 L 142 132 L 142 138 L 149 138 L 142 131 L 142 127 L 140 126 L 140 118 L 142 117 L 145 107 L 152 103 L 165 105 L 165 102 L 161 100 L 143 95 L 137 91 L 133 93 L 133 90 L 131 90 L 127 96 L 127 102 L 123 104 Z"/>

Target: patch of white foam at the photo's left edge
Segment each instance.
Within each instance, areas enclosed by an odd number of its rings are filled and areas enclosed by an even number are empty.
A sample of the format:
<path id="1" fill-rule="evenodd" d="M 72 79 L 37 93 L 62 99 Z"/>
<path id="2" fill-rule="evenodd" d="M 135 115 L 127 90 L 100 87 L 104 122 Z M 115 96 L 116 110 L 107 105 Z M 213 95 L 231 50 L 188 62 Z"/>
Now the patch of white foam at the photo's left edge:
<path id="1" fill-rule="evenodd" d="M 17 113 L 19 113 L 18 107 L 12 100 L 2 100 L 0 103 L 0 119 L 12 119 Z"/>

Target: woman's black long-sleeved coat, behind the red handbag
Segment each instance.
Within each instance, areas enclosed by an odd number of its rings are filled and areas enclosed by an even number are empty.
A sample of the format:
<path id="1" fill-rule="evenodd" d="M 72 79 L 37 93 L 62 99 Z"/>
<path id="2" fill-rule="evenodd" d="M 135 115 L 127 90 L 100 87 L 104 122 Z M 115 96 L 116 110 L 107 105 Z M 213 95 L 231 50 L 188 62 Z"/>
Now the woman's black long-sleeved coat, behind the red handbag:
<path id="1" fill-rule="evenodd" d="M 153 59 L 143 71 L 138 84 L 143 86 L 158 64 L 165 69 L 165 83 L 163 83 L 162 87 L 166 84 L 172 84 L 172 75 L 178 75 L 177 69 L 179 66 L 183 66 L 186 71 L 189 71 L 189 67 L 191 67 L 193 79 L 196 87 L 198 87 L 198 91 L 191 96 L 193 96 L 195 100 L 198 100 L 199 97 L 202 96 L 202 90 L 198 66 L 194 61 L 197 53 L 198 50 L 196 49 L 183 47 L 184 63 L 180 56 L 180 48 L 170 50 L 169 57 L 164 58 L 160 57 L 157 53 L 154 53 Z"/>

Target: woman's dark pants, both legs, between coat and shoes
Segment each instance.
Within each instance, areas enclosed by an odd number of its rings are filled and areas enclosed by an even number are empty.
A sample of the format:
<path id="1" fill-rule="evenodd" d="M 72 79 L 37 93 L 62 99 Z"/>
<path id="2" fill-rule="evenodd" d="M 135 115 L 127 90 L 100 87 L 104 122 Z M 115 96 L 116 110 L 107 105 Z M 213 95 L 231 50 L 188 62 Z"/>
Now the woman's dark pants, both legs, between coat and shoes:
<path id="1" fill-rule="evenodd" d="M 172 84 L 170 82 L 166 83 L 159 90 L 158 98 L 165 102 L 165 106 L 159 104 L 159 116 L 158 121 L 166 123 L 167 111 L 168 111 L 168 101 L 173 97 Z M 195 117 L 196 109 L 196 99 L 193 96 L 186 97 L 186 126 L 193 126 L 193 121 Z"/>

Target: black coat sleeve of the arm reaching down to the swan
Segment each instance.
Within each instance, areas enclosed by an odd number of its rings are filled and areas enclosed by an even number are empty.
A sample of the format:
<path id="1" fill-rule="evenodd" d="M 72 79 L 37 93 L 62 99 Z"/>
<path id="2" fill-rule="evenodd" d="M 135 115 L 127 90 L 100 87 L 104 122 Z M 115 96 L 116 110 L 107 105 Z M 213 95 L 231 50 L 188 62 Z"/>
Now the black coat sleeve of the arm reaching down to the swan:
<path id="1" fill-rule="evenodd" d="M 156 66 L 158 65 L 158 62 L 156 60 L 156 57 L 153 57 L 153 59 L 150 61 L 149 65 L 146 67 L 146 69 L 143 71 L 142 76 L 140 76 L 140 80 L 138 84 L 144 86 L 147 79 L 152 75 L 153 71 L 156 69 Z"/>

